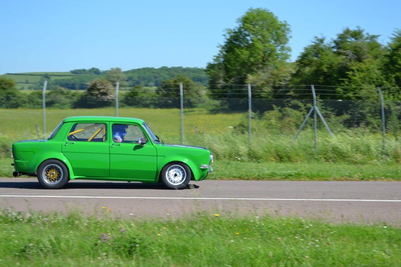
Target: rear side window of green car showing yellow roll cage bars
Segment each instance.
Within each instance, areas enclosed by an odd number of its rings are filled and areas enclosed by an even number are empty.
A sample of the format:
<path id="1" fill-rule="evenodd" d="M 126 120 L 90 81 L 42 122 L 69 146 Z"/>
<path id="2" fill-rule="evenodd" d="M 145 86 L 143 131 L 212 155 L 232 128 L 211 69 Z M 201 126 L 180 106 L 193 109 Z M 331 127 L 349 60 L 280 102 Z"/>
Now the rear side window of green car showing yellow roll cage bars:
<path id="1" fill-rule="evenodd" d="M 106 124 L 104 123 L 76 123 L 70 130 L 67 140 L 105 142 Z"/>

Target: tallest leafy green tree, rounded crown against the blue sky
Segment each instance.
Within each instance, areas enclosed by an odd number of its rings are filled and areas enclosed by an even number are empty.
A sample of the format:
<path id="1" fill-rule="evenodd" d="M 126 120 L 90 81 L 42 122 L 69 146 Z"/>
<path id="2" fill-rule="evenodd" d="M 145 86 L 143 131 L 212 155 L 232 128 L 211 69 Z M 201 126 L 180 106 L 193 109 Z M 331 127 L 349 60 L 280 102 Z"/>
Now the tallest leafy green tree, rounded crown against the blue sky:
<path id="1" fill-rule="evenodd" d="M 219 54 L 207 66 L 215 93 L 221 93 L 221 89 L 236 92 L 234 87 L 224 85 L 246 84 L 254 75 L 260 76 L 260 72 L 269 73 L 269 79 L 277 80 L 275 71 L 290 57 L 289 25 L 279 21 L 272 12 L 250 9 L 237 23 L 235 29 L 226 30 L 225 43 L 219 46 Z"/>

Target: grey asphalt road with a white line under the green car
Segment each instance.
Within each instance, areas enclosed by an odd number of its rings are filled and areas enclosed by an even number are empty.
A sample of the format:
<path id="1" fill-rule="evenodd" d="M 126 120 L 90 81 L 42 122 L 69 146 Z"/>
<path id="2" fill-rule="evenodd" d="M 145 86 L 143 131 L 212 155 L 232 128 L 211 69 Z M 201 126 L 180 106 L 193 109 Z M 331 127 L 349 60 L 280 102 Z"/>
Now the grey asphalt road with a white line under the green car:
<path id="1" fill-rule="evenodd" d="M 0 178 L 0 208 L 81 210 L 99 216 L 180 217 L 193 212 L 318 217 L 331 222 L 401 224 L 401 183 L 367 181 L 191 181 L 159 184 L 72 180 L 59 190 L 36 178 Z"/>

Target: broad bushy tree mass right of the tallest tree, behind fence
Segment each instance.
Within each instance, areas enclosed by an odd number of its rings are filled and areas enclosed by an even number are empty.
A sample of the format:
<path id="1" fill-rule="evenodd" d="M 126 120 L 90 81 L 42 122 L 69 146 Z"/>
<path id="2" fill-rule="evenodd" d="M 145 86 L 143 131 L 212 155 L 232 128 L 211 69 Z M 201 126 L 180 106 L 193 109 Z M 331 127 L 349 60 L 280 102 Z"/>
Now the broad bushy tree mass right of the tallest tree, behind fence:
<path id="1" fill-rule="evenodd" d="M 357 92 L 360 88 L 356 87 L 382 86 L 381 64 L 385 50 L 377 41 L 378 37 L 365 34 L 360 27 L 355 30 L 345 28 L 330 42 L 315 37 L 298 57 L 291 83 L 338 86 L 330 89 L 333 90 L 331 93 L 320 95 L 320 98 L 327 99 L 337 99 L 338 95 L 341 99 L 355 99 L 360 97 Z M 340 88 L 344 86 L 355 89 Z M 310 97 L 310 94 L 301 97 Z"/>

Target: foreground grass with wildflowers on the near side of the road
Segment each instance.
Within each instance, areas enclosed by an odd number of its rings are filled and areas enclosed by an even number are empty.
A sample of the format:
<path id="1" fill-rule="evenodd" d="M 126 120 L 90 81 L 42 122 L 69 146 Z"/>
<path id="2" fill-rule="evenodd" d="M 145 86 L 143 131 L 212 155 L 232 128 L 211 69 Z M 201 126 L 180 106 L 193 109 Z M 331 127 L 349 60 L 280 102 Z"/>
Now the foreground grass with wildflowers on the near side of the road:
<path id="1" fill-rule="evenodd" d="M 401 229 L 198 212 L 179 219 L 0 212 L 7 266 L 397 266 Z"/>

